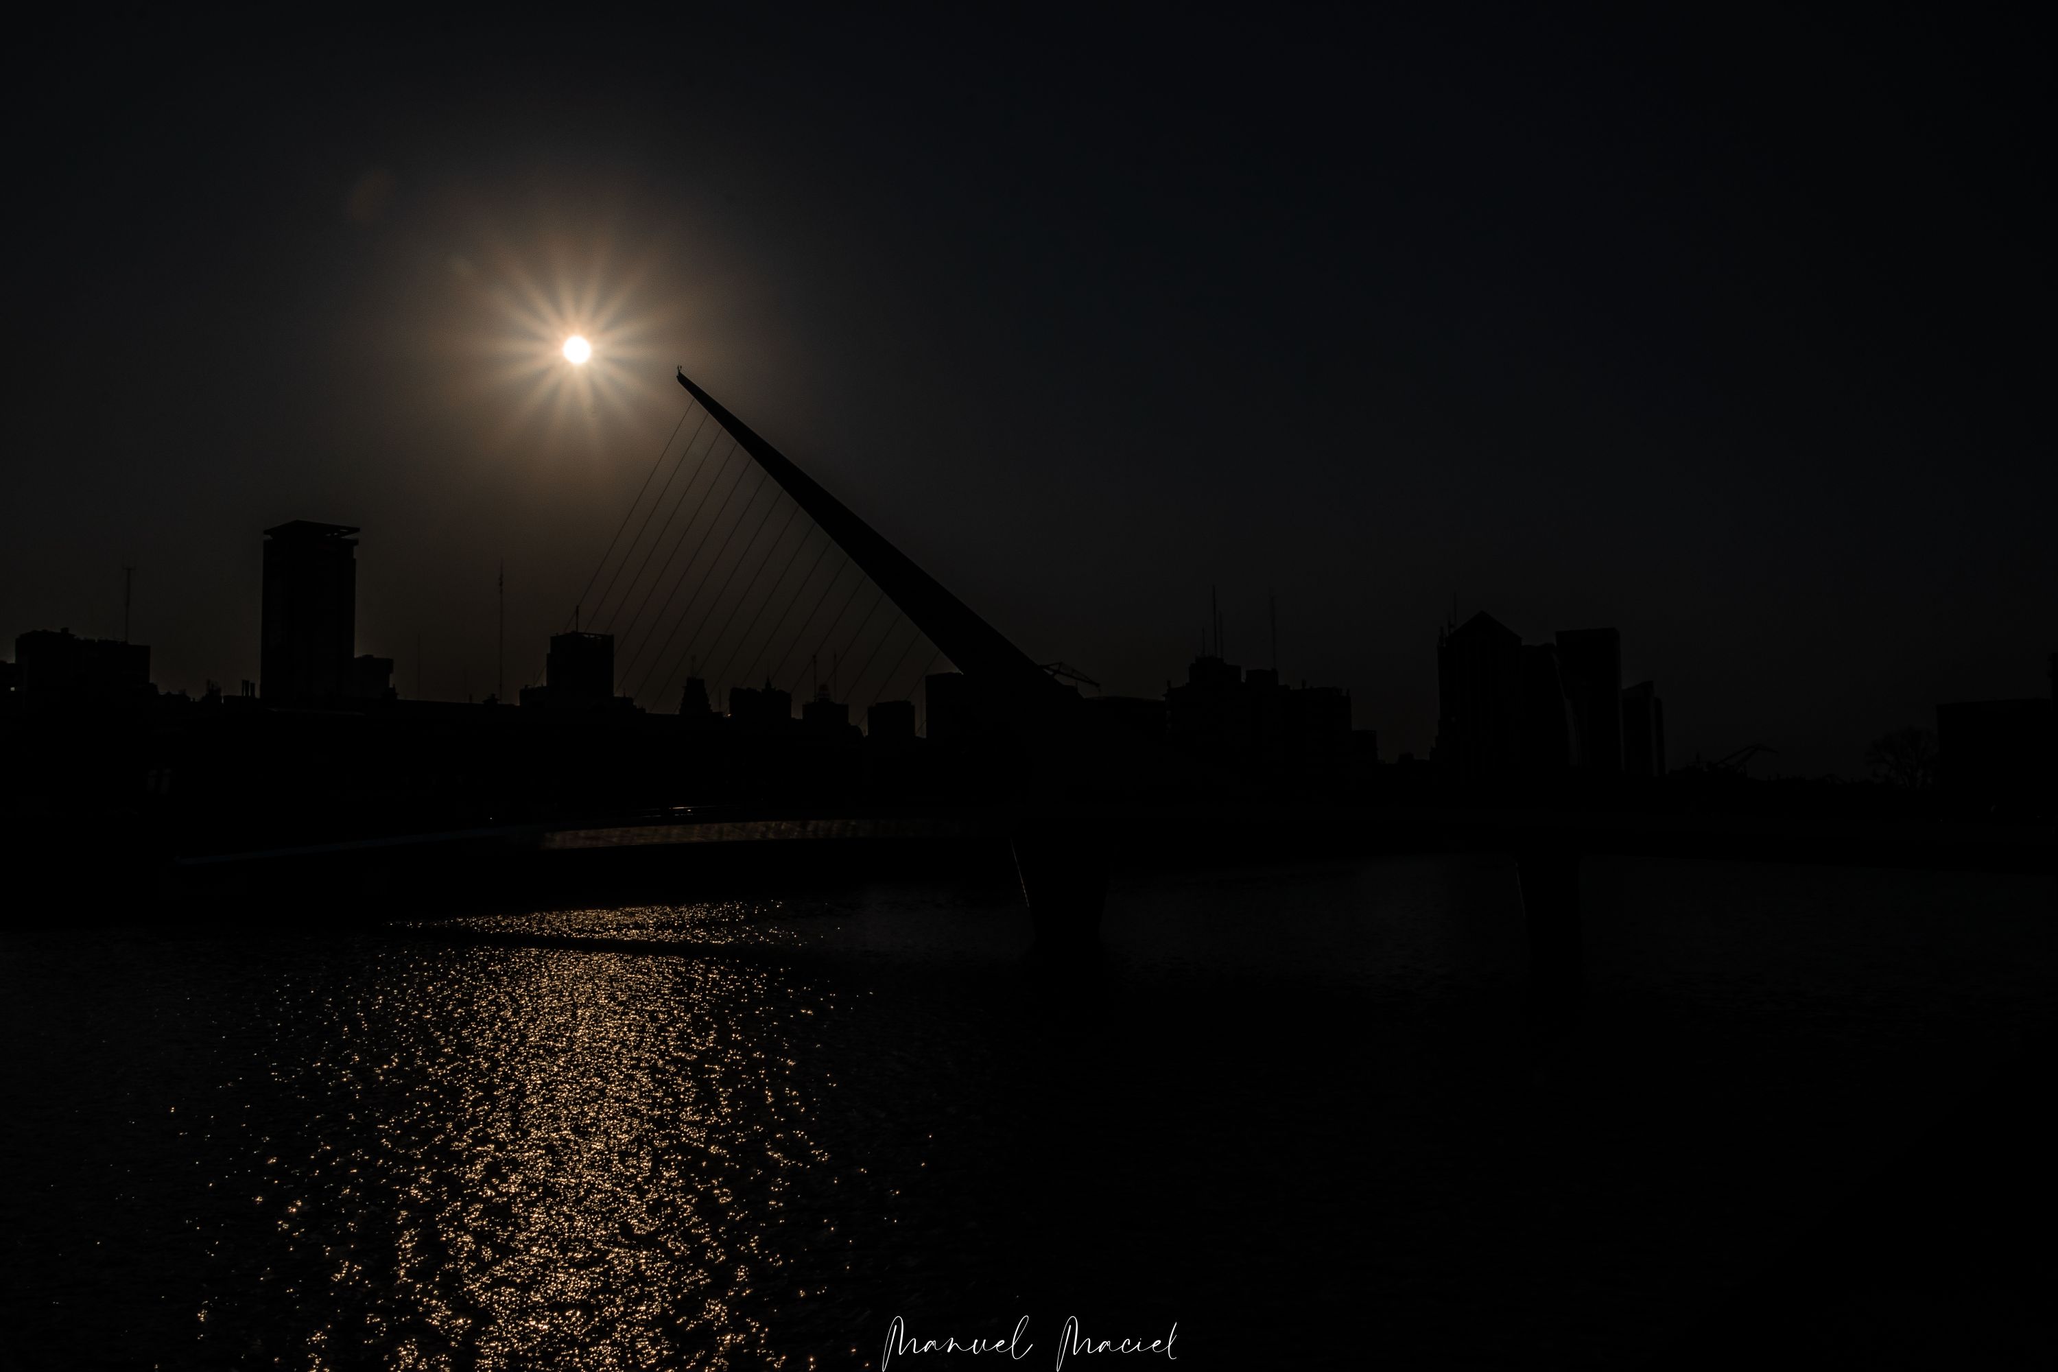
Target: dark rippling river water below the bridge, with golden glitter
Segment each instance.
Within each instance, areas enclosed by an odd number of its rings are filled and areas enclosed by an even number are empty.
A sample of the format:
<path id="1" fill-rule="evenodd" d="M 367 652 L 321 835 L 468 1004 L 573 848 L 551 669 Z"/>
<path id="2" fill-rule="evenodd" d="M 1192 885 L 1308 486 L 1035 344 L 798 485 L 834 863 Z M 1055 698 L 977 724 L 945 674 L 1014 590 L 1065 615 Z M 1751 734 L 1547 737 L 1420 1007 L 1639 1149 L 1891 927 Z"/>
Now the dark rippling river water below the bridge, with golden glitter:
<path id="1" fill-rule="evenodd" d="M 2048 1006 L 2048 876 L 1616 864 L 1523 1041 L 1513 868 L 0 936 L 10 1366 L 1638 1366 Z M 1360 1362 L 1362 1358 L 1362 1362 Z M 1017 1366 L 903 1353 L 893 1366 Z M 1066 1366 L 1157 1366 L 1074 1356 Z"/>

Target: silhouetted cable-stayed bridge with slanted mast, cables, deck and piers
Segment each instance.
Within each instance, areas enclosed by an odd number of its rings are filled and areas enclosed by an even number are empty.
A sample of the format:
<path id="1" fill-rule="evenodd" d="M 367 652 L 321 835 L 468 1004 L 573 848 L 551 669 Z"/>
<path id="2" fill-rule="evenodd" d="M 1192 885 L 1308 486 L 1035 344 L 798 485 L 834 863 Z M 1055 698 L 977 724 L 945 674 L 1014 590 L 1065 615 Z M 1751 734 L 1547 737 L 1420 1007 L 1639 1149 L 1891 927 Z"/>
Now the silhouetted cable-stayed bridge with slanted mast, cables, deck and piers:
<path id="1" fill-rule="evenodd" d="M 1183 804 L 1109 788 L 1085 701 L 971 607 L 918 568 L 842 500 L 731 413 L 685 372 L 691 397 L 572 613 L 580 631 L 615 634 L 619 691 L 675 708 L 687 683 L 809 685 L 868 706 L 914 695 L 938 664 L 978 683 L 1010 747 L 984 755 L 978 796 L 916 808 L 862 800 L 603 815 L 296 854 L 220 854 L 187 866 L 321 858 L 379 845 L 486 843 L 498 852 L 644 852 L 710 843 L 821 843 L 920 835 L 1006 837 L 1039 946 L 1091 944 L 1111 845 L 1185 841 L 1212 856 L 1494 850 L 1517 858 L 1531 961 L 1531 1010 L 1546 1028 L 1576 1020 L 1587 915 L 1607 903 L 1587 858 L 1725 858 L 1974 870 L 2054 868 L 2050 825 L 1815 823 L 1618 810 L 1303 806 L 1208 796 Z M 792 695 L 801 695 L 792 689 Z M 498 845 L 498 847 L 496 847 Z M 512 845 L 512 847 L 510 847 Z M 1305 847 L 1305 845 L 1303 845 Z M 1603 882 L 1605 884 L 1605 882 Z"/>

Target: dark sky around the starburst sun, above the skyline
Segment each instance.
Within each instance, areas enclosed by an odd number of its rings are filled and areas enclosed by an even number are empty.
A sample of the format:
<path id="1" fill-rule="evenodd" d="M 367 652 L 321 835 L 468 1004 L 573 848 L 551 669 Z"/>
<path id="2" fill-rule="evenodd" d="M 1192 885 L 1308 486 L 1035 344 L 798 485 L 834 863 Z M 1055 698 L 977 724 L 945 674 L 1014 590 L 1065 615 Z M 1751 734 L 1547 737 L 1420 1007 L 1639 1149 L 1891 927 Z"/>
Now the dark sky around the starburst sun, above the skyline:
<path id="1" fill-rule="evenodd" d="M 1453 601 L 1618 625 L 1675 761 L 1848 773 L 2044 693 L 2044 35 L 1426 8 L 158 10 L 16 53 L 0 634 L 117 634 L 132 559 L 158 683 L 235 689 L 259 531 L 317 518 L 364 527 L 403 693 L 492 689 L 502 557 L 533 679 L 683 362 L 1109 689 L 1183 677 L 1210 584 L 1264 662 L 1276 592 L 1389 759 Z"/>

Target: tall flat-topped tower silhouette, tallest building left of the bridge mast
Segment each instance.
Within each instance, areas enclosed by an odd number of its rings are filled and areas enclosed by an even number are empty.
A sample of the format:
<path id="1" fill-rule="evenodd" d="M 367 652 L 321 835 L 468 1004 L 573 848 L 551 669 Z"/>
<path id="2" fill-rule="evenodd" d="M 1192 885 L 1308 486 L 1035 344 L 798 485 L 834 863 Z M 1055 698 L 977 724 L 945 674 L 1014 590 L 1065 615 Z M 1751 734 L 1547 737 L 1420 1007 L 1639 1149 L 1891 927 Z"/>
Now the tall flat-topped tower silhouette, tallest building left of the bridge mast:
<path id="1" fill-rule="evenodd" d="M 296 518 L 265 529 L 257 679 L 270 701 L 350 695 L 358 541 L 350 525 Z"/>

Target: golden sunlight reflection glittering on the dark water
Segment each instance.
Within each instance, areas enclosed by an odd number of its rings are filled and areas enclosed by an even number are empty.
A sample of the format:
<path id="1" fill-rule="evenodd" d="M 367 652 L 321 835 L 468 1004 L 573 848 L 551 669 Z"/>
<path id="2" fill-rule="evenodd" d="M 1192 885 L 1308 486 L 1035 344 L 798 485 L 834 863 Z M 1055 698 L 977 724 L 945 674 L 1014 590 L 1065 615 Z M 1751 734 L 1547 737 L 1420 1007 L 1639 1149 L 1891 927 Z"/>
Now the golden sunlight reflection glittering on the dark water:
<path id="1" fill-rule="evenodd" d="M 735 938 L 761 913 L 465 924 L 665 942 Z M 829 1160 L 794 1035 L 833 1000 L 619 948 L 438 950 L 333 987 L 319 1018 L 338 1051 L 290 1084 L 317 1146 L 278 1168 L 307 1197 L 280 1232 L 323 1244 L 335 1288 L 313 1366 L 360 1341 L 399 1368 L 780 1366 L 782 1209 Z"/>

